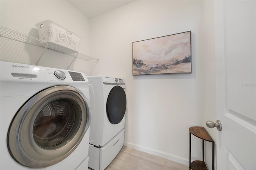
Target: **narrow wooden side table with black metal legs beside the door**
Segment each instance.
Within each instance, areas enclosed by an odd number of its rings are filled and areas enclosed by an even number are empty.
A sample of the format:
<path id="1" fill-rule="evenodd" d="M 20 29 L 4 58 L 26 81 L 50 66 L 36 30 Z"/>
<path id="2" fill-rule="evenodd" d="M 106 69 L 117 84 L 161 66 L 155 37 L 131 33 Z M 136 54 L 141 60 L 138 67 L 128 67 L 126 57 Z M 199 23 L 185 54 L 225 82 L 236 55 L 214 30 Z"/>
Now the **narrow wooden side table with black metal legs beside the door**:
<path id="1" fill-rule="evenodd" d="M 195 160 L 191 162 L 191 134 L 203 140 L 203 160 Z M 214 170 L 214 140 L 204 127 L 190 127 L 189 128 L 189 169 L 192 170 L 207 170 L 204 162 L 204 140 L 212 142 L 212 170 Z"/>

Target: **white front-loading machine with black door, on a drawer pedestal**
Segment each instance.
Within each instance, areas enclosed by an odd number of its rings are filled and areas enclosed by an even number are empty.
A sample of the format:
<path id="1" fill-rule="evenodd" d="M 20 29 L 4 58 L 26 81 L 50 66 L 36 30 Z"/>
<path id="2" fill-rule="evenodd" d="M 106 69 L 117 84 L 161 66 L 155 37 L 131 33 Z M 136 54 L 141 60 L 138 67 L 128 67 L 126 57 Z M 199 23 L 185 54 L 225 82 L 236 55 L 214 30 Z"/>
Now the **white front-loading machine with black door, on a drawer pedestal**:
<path id="1" fill-rule="evenodd" d="M 92 106 L 89 167 L 104 170 L 124 145 L 125 84 L 114 77 L 87 78 Z"/>

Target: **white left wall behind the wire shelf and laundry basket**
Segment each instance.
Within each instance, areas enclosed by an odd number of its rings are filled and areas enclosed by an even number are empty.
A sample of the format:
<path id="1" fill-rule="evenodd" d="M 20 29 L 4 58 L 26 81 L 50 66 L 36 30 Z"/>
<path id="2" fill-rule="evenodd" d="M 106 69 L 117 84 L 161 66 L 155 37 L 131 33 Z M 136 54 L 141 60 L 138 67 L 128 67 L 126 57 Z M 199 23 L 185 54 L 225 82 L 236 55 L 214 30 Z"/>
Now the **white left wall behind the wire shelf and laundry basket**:
<path id="1" fill-rule="evenodd" d="M 89 19 L 67 1 L 1 0 L 0 11 L 1 26 L 36 38 L 38 38 L 38 31 L 35 25 L 44 20 L 52 20 L 82 37 L 79 48 L 81 53 L 90 52 Z M 1 61 L 36 64 L 42 48 L 7 41 L 1 41 Z M 12 47 L 11 50 L 5 49 L 6 42 L 12 44 L 8 45 Z M 73 59 L 52 50 L 47 50 L 44 54 L 38 65 L 67 69 Z M 81 61 L 76 61 L 70 69 L 80 71 Z"/>

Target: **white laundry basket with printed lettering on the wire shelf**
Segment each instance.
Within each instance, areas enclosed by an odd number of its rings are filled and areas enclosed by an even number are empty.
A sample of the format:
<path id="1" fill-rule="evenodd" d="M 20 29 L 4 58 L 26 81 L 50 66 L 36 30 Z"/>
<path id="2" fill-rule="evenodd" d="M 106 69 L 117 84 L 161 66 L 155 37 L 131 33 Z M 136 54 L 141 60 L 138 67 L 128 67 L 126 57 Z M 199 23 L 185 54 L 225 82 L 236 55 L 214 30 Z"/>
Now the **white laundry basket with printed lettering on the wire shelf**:
<path id="1" fill-rule="evenodd" d="M 36 27 L 38 29 L 39 39 L 78 51 L 81 37 L 74 32 L 51 20 L 40 22 L 36 24 Z"/>

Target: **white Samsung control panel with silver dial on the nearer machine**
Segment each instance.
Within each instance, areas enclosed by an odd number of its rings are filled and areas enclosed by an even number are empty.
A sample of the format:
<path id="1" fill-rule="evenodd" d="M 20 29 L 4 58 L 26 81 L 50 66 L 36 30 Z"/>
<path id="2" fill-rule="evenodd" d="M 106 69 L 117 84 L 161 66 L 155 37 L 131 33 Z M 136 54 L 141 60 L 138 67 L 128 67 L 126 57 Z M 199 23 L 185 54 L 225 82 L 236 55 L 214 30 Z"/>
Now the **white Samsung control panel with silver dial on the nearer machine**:
<path id="1" fill-rule="evenodd" d="M 0 81 L 17 83 L 87 83 L 78 71 L 0 61 Z"/>

